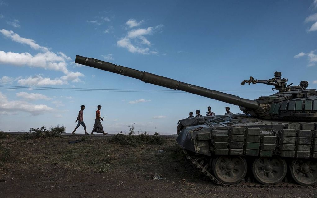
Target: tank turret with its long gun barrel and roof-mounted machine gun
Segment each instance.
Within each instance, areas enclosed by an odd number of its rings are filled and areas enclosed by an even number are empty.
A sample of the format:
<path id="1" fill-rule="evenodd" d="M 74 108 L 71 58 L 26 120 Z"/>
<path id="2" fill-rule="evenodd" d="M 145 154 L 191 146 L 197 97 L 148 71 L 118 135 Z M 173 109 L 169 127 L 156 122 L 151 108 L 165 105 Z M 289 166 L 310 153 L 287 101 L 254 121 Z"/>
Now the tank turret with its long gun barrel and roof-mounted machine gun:
<path id="1" fill-rule="evenodd" d="M 255 100 L 240 98 L 235 95 L 215 91 L 212 89 L 191 85 L 178 80 L 166 78 L 153 73 L 142 72 L 128 67 L 115 65 L 93 58 L 76 56 L 75 63 L 95 67 L 108 72 L 118 73 L 143 82 L 151 83 L 170 89 L 178 89 L 222 102 L 238 105 L 245 114 L 263 119 L 292 119 L 317 121 L 317 93 L 315 89 L 306 89 L 307 81 L 300 86 L 287 86 L 288 79 L 281 78 L 281 72 L 275 72 L 275 78 L 269 80 L 255 80 L 250 77 L 245 83 L 264 83 L 275 86 L 279 90 L 271 96 L 262 96 Z"/>

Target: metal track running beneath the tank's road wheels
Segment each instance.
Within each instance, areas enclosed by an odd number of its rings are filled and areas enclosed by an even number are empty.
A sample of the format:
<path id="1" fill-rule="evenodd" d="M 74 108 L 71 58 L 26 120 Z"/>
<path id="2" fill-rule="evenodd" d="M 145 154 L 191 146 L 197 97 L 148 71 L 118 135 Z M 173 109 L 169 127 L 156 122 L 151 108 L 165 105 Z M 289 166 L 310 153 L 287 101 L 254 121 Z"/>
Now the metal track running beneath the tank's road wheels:
<path id="1" fill-rule="evenodd" d="M 204 162 L 204 160 L 199 161 L 197 157 L 190 155 L 190 152 L 187 152 L 187 150 L 184 150 L 184 154 L 186 156 L 186 159 L 190 160 L 193 165 L 195 165 L 198 169 L 201 170 L 202 173 L 204 173 L 212 182 L 214 182 L 217 185 L 221 185 L 223 187 L 232 188 L 232 187 L 254 187 L 254 188 L 317 188 L 317 185 L 312 186 L 302 186 L 299 184 L 291 183 L 288 181 L 283 181 L 278 184 L 274 185 L 263 185 L 255 182 L 247 182 L 244 179 L 237 183 L 237 184 L 224 184 L 217 180 L 216 177 L 214 177 L 210 171 L 206 168 L 209 166 L 209 163 Z"/>

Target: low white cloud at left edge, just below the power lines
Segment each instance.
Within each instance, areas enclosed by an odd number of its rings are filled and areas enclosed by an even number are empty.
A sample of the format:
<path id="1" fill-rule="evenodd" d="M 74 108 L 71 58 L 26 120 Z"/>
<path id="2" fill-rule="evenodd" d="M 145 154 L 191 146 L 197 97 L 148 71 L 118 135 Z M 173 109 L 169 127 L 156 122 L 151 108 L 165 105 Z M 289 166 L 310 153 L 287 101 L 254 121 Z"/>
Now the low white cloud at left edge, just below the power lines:
<path id="1" fill-rule="evenodd" d="M 32 115 L 40 115 L 45 112 L 55 111 L 47 105 L 34 105 L 26 101 L 12 100 L 9 101 L 7 97 L 0 92 L 0 111 L 2 114 L 10 114 L 15 112 L 29 112 Z"/>

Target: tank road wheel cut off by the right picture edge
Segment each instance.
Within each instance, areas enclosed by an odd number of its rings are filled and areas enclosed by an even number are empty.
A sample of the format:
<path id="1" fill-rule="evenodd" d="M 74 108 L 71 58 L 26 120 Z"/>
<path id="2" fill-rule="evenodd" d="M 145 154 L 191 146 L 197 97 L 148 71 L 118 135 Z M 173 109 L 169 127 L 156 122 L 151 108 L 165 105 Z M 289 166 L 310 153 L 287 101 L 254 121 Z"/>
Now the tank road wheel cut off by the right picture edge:
<path id="1" fill-rule="evenodd" d="M 294 160 L 289 169 L 295 182 L 310 186 L 317 182 L 317 163 L 310 159 Z"/>

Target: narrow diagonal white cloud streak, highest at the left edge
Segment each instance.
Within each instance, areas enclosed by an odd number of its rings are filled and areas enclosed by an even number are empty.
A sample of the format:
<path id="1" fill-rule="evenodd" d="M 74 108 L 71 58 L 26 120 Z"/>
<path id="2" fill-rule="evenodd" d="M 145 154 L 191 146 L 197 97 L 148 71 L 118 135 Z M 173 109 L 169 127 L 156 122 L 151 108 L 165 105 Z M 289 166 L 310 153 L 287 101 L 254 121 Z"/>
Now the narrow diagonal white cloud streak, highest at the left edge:
<path id="1" fill-rule="evenodd" d="M 2 30 L 0 30 L 0 32 L 5 37 L 10 38 L 12 41 L 29 45 L 31 48 L 36 49 L 36 50 L 42 50 L 42 51 L 45 51 L 45 52 L 49 51 L 48 48 L 40 46 L 34 40 L 20 37 L 20 35 L 14 33 L 12 30 L 9 31 L 9 30 L 6 30 L 6 29 L 2 29 Z"/>

